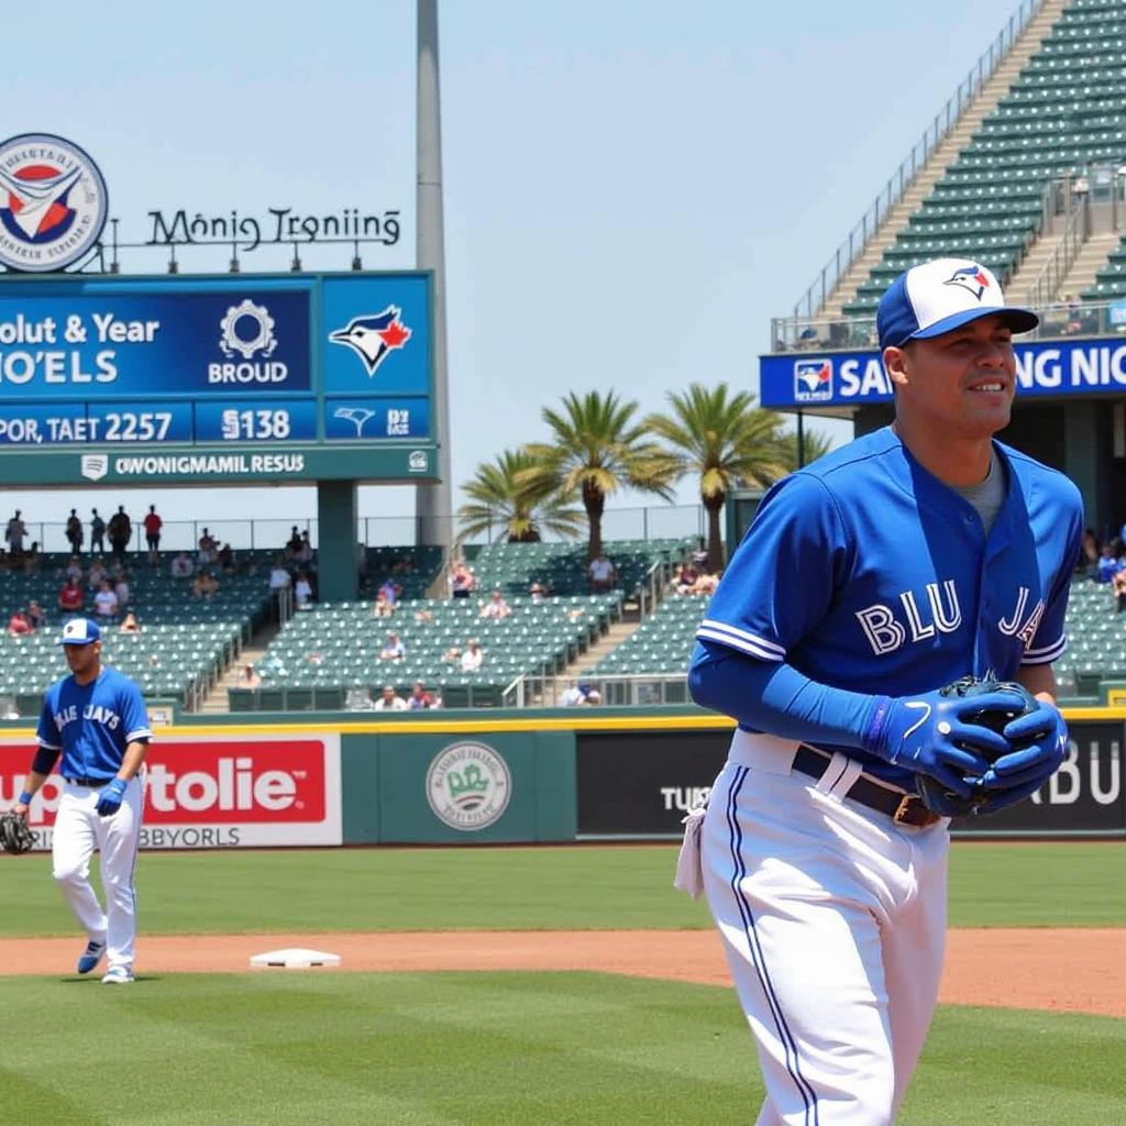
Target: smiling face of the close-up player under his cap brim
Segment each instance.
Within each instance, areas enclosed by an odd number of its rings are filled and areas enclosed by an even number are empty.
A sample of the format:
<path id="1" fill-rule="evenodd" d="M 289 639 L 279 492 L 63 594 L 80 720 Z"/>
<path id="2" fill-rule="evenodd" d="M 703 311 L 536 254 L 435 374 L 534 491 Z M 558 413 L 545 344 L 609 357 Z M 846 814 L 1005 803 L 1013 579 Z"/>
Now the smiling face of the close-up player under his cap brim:
<path id="1" fill-rule="evenodd" d="M 885 351 L 897 418 L 932 436 L 988 438 L 1009 425 L 1017 390 L 1012 330 L 1001 316 Z"/>

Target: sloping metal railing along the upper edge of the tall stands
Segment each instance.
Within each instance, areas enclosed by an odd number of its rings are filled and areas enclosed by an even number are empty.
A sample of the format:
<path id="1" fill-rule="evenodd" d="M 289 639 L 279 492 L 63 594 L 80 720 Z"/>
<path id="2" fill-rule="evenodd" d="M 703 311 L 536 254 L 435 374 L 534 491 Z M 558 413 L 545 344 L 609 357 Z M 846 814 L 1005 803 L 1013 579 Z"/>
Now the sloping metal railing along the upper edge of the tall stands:
<path id="1" fill-rule="evenodd" d="M 973 100 L 977 91 L 989 81 L 1001 60 L 1008 54 L 1029 20 L 1040 9 L 1044 0 L 1021 0 L 1020 7 L 1009 17 L 1009 23 L 998 33 L 997 38 L 982 53 L 969 73 L 958 83 L 957 90 L 946 105 L 935 115 L 922 136 L 911 146 L 911 151 L 900 162 L 900 167 L 888 177 L 872 206 L 860 216 L 848 236 L 840 243 L 829 261 L 810 284 L 794 305 L 794 316 L 812 316 L 824 305 L 837 283 L 848 272 L 849 267 L 860 257 L 865 247 L 879 230 L 887 213 L 899 203 L 904 191 L 914 182 L 926 167 L 931 153 L 946 138 L 950 128 L 962 116 L 962 111 Z"/>

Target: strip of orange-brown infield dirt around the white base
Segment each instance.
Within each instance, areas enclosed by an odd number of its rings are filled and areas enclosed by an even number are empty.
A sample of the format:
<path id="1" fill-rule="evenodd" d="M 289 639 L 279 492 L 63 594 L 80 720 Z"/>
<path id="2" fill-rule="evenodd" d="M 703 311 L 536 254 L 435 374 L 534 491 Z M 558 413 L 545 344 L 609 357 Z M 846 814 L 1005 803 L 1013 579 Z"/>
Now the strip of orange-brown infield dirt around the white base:
<path id="1" fill-rule="evenodd" d="M 0 940 L 0 975 L 66 975 L 81 945 L 77 937 Z M 142 935 L 137 971 L 242 973 L 252 955 L 286 947 L 339 954 L 346 971 L 583 969 L 730 981 L 712 930 Z M 1126 929 L 951 930 L 939 1000 L 1124 1017 Z"/>

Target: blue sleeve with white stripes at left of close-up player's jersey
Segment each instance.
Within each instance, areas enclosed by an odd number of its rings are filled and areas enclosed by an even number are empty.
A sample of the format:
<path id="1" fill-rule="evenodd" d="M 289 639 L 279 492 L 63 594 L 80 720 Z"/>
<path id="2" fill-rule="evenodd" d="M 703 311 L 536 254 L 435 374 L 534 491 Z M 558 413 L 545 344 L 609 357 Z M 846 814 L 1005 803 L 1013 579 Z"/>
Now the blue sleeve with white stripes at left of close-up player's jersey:
<path id="1" fill-rule="evenodd" d="M 801 472 L 784 477 L 762 499 L 697 640 L 785 661 L 828 613 L 848 552 L 844 522 L 821 479 Z"/>

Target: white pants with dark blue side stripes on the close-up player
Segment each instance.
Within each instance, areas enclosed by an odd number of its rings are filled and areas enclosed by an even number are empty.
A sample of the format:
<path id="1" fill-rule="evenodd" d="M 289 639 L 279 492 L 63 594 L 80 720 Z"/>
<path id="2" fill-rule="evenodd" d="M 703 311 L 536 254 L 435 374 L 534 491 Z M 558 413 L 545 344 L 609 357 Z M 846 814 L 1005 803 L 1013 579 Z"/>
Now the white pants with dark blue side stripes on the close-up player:
<path id="1" fill-rule="evenodd" d="M 736 732 L 704 821 L 704 886 L 767 1097 L 758 1126 L 886 1126 L 938 999 L 944 820 L 926 829 L 842 799 L 795 743 Z"/>

